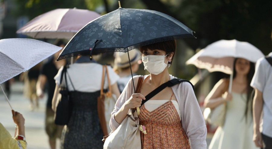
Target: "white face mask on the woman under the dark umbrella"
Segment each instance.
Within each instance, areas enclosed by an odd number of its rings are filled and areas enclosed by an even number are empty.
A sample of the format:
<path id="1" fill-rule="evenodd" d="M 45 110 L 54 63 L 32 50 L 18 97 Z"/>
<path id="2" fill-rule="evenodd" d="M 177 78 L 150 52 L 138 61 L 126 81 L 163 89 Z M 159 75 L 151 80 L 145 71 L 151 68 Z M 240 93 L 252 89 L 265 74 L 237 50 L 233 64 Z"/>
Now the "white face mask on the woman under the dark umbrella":
<path id="1" fill-rule="evenodd" d="M 164 57 L 167 55 L 147 55 L 142 57 L 144 70 L 149 71 L 154 75 L 163 72 L 167 64 L 164 63 Z"/>

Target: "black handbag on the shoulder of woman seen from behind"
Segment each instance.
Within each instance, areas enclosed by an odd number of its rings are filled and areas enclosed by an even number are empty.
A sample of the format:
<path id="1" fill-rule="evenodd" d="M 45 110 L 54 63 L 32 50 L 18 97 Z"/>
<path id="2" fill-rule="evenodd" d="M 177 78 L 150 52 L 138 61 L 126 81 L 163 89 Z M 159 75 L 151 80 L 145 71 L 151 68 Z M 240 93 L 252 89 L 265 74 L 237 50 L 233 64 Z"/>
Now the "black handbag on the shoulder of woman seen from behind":
<path id="1" fill-rule="evenodd" d="M 70 116 L 71 116 L 72 109 L 73 109 L 71 100 L 69 98 L 70 96 L 69 96 L 68 87 L 66 87 L 67 86 L 66 74 L 68 75 L 67 67 L 64 66 L 63 70 L 61 72 L 60 88 L 59 88 L 59 94 L 57 97 L 56 111 L 55 111 L 55 115 L 54 115 L 54 121 L 55 121 L 55 124 L 57 124 L 57 125 L 67 125 L 69 123 Z M 65 77 L 66 86 L 61 85 L 63 75 Z M 68 77 L 69 77 L 69 75 L 68 75 Z M 69 77 L 69 79 L 70 79 L 70 77 Z M 71 79 L 70 79 L 70 81 L 71 81 Z M 71 83 L 72 83 L 72 81 L 71 81 Z M 73 86 L 73 83 L 72 83 L 72 86 Z M 73 86 L 73 88 L 74 88 L 74 86 Z"/>

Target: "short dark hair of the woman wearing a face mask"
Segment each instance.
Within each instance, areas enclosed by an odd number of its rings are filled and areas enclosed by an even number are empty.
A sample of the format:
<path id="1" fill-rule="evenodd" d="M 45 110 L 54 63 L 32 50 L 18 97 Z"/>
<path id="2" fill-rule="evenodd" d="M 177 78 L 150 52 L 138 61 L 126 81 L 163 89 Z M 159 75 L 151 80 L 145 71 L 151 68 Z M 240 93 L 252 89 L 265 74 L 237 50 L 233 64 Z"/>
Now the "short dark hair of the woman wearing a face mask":
<path id="1" fill-rule="evenodd" d="M 143 53 L 143 51 L 146 51 L 147 49 L 150 50 L 163 50 L 166 52 L 166 54 L 173 52 L 173 57 L 172 57 L 172 61 L 174 59 L 174 55 L 176 52 L 176 39 L 173 40 L 167 40 L 167 41 L 163 41 L 163 42 L 156 42 L 150 45 L 144 45 L 142 47 L 140 47 L 140 52 Z M 170 62 L 170 64 L 172 64 L 172 61 Z"/>

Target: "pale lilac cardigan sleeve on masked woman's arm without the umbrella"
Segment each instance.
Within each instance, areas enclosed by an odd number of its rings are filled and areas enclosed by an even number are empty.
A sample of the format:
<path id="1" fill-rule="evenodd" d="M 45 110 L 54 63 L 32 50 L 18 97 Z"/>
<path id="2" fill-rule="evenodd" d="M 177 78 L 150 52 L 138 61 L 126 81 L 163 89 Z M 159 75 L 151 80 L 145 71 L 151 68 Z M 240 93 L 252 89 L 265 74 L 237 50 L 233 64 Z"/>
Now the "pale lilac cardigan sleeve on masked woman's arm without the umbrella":
<path id="1" fill-rule="evenodd" d="M 181 112 L 181 125 L 191 141 L 193 149 L 206 149 L 207 127 L 193 88 L 189 82 L 174 85 Z"/>

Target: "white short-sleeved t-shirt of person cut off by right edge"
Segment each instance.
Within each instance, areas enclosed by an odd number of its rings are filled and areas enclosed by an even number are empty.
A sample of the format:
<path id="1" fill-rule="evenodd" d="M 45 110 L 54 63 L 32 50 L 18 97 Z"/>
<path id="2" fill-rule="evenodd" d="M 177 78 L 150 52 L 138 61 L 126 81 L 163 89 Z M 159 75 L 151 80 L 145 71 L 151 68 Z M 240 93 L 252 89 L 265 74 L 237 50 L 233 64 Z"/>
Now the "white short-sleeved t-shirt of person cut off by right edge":
<path id="1" fill-rule="evenodd" d="M 272 57 L 272 52 L 269 54 Z M 256 70 L 251 84 L 263 93 L 263 119 L 261 130 L 264 135 L 272 137 L 272 66 L 263 57 L 256 62 Z"/>

